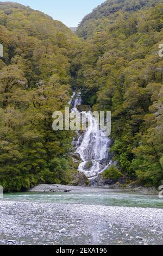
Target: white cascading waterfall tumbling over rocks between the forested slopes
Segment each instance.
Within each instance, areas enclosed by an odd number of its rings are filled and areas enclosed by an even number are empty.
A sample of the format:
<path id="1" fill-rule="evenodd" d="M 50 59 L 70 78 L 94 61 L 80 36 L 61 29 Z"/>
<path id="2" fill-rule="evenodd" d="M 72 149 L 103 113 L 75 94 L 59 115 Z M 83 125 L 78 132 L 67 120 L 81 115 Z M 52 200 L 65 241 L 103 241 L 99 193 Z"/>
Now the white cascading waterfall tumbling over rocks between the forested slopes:
<path id="1" fill-rule="evenodd" d="M 77 105 L 82 103 L 80 93 L 72 101 L 72 112 L 78 112 Z M 79 172 L 83 172 L 88 178 L 102 173 L 111 164 L 108 159 L 108 151 L 111 140 L 99 130 L 98 121 L 93 117 L 91 111 L 85 113 L 90 121 L 89 127 L 84 133 L 78 132 L 76 153 L 80 155 L 82 163 L 79 164 Z"/>

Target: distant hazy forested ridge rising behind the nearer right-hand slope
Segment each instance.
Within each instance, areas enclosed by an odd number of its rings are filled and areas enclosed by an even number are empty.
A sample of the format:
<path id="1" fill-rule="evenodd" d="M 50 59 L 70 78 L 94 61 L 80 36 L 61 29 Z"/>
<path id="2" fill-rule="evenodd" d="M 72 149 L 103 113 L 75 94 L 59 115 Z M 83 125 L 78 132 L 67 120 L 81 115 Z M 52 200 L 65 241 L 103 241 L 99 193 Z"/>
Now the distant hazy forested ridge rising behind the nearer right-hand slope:
<path id="1" fill-rule="evenodd" d="M 155 7 L 158 3 L 162 3 L 162 0 L 107 0 L 84 17 L 77 34 L 84 39 L 91 38 L 105 26 L 114 23 L 121 14 Z"/>

